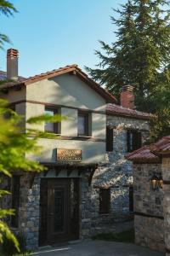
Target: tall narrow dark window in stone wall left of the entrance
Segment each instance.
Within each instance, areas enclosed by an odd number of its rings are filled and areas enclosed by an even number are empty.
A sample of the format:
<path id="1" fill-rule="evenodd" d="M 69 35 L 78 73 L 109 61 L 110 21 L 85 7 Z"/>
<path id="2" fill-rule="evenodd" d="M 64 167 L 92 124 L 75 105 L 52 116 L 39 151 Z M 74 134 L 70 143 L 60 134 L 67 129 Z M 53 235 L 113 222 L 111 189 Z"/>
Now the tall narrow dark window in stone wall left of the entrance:
<path id="1" fill-rule="evenodd" d="M 19 222 L 19 205 L 20 205 L 20 176 L 12 177 L 12 209 L 14 215 L 11 216 L 11 226 L 18 228 Z"/>

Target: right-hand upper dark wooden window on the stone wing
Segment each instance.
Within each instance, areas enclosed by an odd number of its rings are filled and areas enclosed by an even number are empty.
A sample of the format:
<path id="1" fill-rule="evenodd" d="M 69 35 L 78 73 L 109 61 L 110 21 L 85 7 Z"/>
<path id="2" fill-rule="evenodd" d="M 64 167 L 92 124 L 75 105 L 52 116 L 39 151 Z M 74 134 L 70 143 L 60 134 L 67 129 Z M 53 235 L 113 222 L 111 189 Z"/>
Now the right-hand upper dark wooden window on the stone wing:
<path id="1" fill-rule="evenodd" d="M 132 152 L 142 146 L 141 132 L 137 130 L 127 130 L 127 152 Z"/>

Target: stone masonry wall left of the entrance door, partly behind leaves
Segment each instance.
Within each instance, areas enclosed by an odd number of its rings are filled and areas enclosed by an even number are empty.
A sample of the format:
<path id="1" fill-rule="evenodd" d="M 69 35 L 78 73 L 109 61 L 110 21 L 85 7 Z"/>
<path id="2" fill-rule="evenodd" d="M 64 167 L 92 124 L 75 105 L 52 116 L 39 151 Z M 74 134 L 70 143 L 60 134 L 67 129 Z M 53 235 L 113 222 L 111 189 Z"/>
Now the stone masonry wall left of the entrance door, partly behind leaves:
<path id="1" fill-rule="evenodd" d="M 20 175 L 20 205 L 18 228 L 11 228 L 14 233 L 21 231 L 26 236 L 26 244 L 29 249 L 38 247 L 39 231 L 39 195 L 40 176 L 34 179 L 30 188 L 30 173 Z M 11 189 L 10 179 L 3 178 L 3 189 Z M 2 208 L 12 208 L 11 195 L 6 195 L 1 201 Z M 10 217 L 6 219 L 10 226 Z"/>

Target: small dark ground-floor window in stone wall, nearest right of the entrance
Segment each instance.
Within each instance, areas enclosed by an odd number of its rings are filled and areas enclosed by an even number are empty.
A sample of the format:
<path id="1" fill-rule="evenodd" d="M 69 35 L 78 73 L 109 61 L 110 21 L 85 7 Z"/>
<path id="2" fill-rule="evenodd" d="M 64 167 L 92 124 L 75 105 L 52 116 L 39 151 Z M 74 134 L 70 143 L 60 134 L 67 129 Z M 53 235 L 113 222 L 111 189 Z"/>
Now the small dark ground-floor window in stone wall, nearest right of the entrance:
<path id="1" fill-rule="evenodd" d="M 99 189 L 99 213 L 110 212 L 111 189 Z"/>

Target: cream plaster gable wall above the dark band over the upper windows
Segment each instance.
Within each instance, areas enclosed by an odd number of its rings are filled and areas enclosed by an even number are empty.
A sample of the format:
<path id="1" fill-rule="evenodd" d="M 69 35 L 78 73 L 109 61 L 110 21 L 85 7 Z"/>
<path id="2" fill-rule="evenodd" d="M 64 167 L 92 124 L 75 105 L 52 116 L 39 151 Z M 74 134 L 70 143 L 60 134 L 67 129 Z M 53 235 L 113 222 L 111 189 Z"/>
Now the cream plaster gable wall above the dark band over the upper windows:
<path id="1" fill-rule="evenodd" d="M 26 100 L 105 110 L 105 99 L 75 75 L 64 74 L 26 87 Z"/>

